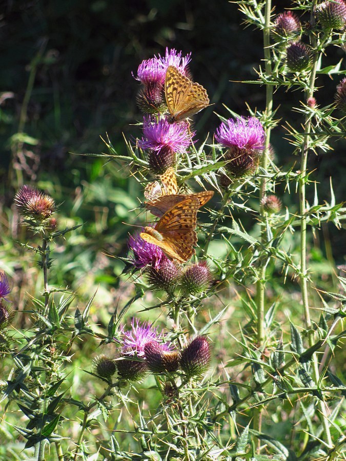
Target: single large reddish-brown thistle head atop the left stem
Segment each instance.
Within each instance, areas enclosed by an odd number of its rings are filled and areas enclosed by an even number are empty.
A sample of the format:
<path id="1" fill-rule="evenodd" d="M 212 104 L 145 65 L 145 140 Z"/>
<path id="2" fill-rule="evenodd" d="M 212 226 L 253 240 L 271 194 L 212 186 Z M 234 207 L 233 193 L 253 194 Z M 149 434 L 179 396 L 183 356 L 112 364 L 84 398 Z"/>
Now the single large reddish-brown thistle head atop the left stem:
<path id="1" fill-rule="evenodd" d="M 19 189 L 14 201 L 18 206 L 19 213 L 27 218 L 43 221 L 55 211 L 55 202 L 51 196 L 28 185 Z"/>

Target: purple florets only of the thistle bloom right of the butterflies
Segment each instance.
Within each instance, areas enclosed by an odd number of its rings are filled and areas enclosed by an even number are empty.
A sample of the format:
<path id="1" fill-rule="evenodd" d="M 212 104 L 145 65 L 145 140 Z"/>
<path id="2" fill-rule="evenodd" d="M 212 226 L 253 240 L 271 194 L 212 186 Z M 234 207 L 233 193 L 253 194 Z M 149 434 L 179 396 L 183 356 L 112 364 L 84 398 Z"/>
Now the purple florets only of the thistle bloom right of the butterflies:
<path id="1" fill-rule="evenodd" d="M 216 130 L 215 139 L 228 148 L 237 147 L 247 150 L 264 149 L 264 130 L 261 122 L 255 117 L 229 118 L 222 122 Z"/>

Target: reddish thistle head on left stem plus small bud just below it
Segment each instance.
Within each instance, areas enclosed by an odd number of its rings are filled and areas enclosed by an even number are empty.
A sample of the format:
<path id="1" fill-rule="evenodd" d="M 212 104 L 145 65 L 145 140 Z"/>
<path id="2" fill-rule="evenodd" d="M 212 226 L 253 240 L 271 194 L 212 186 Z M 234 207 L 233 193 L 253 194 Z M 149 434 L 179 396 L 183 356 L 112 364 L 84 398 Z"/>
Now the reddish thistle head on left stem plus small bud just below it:
<path id="1" fill-rule="evenodd" d="M 35 187 L 24 185 L 15 195 L 14 202 L 24 222 L 35 232 L 56 231 L 57 221 L 52 217 L 56 207 L 51 196 L 38 191 Z"/>

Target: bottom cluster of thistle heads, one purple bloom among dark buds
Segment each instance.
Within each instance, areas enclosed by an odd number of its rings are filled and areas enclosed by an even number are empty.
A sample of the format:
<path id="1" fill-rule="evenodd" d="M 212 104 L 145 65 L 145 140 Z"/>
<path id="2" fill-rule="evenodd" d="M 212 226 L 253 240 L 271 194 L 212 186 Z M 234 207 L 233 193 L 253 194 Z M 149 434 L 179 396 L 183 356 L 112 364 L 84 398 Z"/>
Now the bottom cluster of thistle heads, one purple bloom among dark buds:
<path id="1" fill-rule="evenodd" d="M 201 376 L 209 367 L 211 359 L 209 341 L 197 336 L 181 350 L 165 341 L 164 334 L 150 323 L 140 323 L 132 319 L 131 329 L 121 329 L 121 349 L 115 359 L 104 355 L 94 360 L 95 372 L 110 379 L 117 371 L 121 381 L 140 381 L 151 372 L 181 378 Z"/>

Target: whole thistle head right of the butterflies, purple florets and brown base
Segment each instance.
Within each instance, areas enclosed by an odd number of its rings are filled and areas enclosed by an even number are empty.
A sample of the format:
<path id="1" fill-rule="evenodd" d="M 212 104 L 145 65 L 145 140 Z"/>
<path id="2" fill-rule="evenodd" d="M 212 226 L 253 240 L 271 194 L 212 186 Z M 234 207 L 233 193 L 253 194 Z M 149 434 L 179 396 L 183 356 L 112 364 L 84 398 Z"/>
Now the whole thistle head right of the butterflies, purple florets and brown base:
<path id="1" fill-rule="evenodd" d="M 221 185 L 227 186 L 232 182 L 232 178 L 241 178 L 256 169 L 258 157 L 265 143 L 264 130 L 257 118 L 230 118 L 220 124 L 215 139 L 228 148 L 223 158 L 229 160 L 225 169 L 230 178 L 222 175 Z"/>

